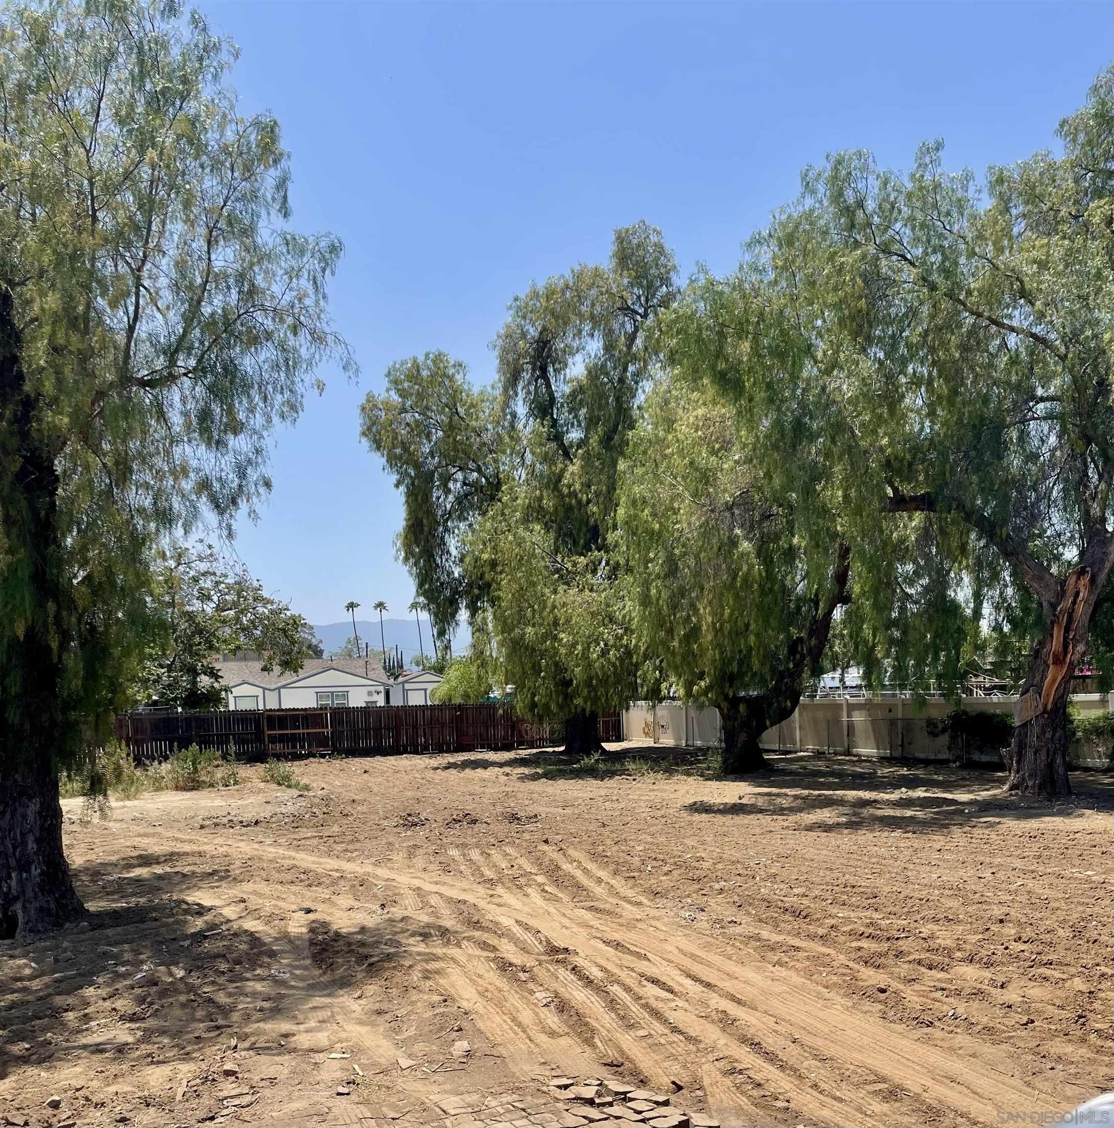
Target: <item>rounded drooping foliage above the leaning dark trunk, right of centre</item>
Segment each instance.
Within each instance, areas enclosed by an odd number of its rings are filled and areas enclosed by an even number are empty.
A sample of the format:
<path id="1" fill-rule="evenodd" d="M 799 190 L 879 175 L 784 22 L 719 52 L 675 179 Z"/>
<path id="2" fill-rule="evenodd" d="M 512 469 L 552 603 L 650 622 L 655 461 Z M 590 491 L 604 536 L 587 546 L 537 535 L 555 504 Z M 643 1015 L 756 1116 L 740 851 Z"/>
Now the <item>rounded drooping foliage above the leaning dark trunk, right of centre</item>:
<path id="1" fill-rule="evenodd" d="M 664 675 L 651 696 L 717 705 L 786 668 L 826 598 L 840 539 L 831 514 L 826 552 L 806 554 L 795 506 L 765 487 L 730 405 L 676 379 L 655 387 L 631 437 L 619 526 L 635 637 Z"/>

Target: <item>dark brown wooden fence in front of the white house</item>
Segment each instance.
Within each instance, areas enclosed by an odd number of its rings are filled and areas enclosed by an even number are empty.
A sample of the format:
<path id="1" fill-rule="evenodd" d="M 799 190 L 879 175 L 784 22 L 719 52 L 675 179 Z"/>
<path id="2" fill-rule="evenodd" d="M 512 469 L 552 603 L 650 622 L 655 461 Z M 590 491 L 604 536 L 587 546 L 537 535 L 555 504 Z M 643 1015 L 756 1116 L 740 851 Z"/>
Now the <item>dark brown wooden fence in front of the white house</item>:
<path id="1" fill-rule="evenodd" d="M 221 752 L 233 748 L 238 760 L 260 760 L 547 748 L 564 740 L 560 722 L 526 721 L 505 705 L 128 713 L 116 717 L 115 732 L 140 761 L 164 760 L 191 744 Z M 599 739 L 623 739 L 621 713 L 600 715 Z"/>

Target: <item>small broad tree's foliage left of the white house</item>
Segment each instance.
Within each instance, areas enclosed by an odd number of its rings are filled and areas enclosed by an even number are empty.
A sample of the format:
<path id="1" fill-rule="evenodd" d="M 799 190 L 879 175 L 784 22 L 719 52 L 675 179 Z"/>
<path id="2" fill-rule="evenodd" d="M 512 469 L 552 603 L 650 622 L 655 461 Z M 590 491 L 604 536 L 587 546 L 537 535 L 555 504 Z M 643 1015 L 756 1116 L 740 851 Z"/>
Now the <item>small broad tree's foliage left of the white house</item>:
<path id="1" fill-rule="evenodd" d="M 269 596 L 243 564 L 211 545 L 176 548 L 156 573 L 164 629 L 148 646 L 137 697 L 178 708 L 220 708 L 225 690 L 213 664 L 221 653 L 254 651 L 265 670 L 297 673 L 321 649 L 313 627 Z"/>

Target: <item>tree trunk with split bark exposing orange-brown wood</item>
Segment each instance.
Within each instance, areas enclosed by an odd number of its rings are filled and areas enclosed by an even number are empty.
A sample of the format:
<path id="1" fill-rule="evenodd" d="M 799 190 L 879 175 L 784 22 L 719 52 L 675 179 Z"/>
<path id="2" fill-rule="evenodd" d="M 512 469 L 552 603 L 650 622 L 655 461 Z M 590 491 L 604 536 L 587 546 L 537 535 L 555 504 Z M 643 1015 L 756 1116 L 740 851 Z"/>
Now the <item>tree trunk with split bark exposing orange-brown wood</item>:
<path id="1" fill-rule="evenodd" d="M 1096 571 L 1085 565 L 1069 573 L 1049 629 L 1033 647 L 1015 710 L 1007 791 L 1044 799 L 1071 794 L 1068 696 L 1076 663 L 1087 651 L 1090 616 L 1106 578 L 1100 563 Z"/>

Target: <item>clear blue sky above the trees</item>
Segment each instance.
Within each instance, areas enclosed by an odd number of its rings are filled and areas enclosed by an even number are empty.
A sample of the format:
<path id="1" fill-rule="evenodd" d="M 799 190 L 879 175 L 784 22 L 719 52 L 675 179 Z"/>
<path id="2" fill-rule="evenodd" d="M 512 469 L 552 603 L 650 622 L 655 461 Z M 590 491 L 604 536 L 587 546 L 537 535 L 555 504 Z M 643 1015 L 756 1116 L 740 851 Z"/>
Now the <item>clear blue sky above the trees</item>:
<path id="1" fill-rule="evenodd" d="M 1114 51 L 1109 0 L 200 7 L 242 49 L 244 107 L 282 123 L 295 226 L 345 245 L 332 307 L 359 382 L 325 371 L 275 434 L 236 545 L 314 623 L 413 598 L 401 501 L 359 440 L 391 361 L 445 349 L 489 380 L 510 299 L 638 219 L 685 274 L 730 270 L 833 150 L 907 167 L 942 136 L 982 170 L 1051 146 Z"/>

